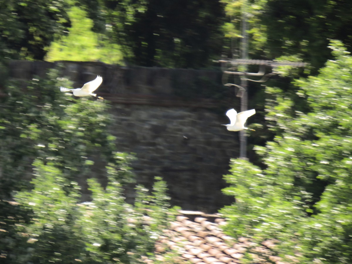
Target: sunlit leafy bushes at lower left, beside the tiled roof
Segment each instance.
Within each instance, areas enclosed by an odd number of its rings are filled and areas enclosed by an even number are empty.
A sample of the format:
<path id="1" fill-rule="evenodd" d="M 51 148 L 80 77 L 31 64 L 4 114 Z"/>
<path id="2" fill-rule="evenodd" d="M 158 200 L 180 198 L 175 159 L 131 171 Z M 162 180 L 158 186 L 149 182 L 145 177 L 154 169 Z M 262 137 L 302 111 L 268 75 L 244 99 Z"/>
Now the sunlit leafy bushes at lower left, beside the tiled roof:
<path id="1" fill-rule="evenodd" d="M 25 239 L 12 239 L 8 263 L 139 263 L 152 255 L 155 240 L 172 218 L 161 178 L 152 195 L 138 187 L 139 202 L 132 206 L 124 202 L 116 172 L 110 171 L 107 187 L 90 178 L 92 202 L 78 203 L 75 182 L 52 165 L 34 165 L 34 188 L 15 195 L 21 208 L 31 212 L 31 221 L 15 227 Z"/>

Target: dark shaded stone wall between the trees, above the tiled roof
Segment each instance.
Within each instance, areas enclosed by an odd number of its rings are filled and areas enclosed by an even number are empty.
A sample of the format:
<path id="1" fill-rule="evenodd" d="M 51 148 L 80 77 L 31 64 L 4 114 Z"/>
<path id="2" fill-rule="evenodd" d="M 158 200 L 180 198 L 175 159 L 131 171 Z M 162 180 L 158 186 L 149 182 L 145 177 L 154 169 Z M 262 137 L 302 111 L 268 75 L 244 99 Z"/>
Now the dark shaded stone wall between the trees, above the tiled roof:
<path id="1" fill-rule="evenodd" d="M 172 205 L 187 210 L 215 212 L 230 202 L 221 193 L 222 175 L 230 158 L 238 157 L 238 132 L 221 124 L 228 123 L 226 110 L 238 108 L 239 101 L 222 86 L 220 71 L 12 61 L 10 75 L 44 77 L 57 64 L 74 87 L 103 77 L 97 93 L 112 102 L 111 131 L 118 151 L 135 153 L 138 183 L 150 187 L 154 176 L 163 177 Z M 131 199 L 133 189 L 126 194 Z"/>

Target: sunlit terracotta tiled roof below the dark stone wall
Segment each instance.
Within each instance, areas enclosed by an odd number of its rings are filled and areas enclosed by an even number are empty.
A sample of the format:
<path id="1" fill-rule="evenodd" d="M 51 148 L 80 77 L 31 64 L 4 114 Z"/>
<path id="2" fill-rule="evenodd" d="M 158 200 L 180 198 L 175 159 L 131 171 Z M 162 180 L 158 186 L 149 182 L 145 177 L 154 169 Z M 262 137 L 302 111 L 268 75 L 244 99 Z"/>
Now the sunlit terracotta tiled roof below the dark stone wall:
<path id="1" fill-rule="evenodd" d="M 274 240 L 266 240 L 262 245 L 255 246 L 248 238 L 234 239 L 225 235 L 219 227 L 225 220 L 219 214 L 182 210 L 179 213 L 155 245 L 156 259 L 161 262 L 163 253 L 171 249 L 180 255 L 175 263 L 238 264 L 242 263 L 244 253 L 251 247 L 255 259 L 253 264 L 288 264 L 270 250 L 275 247 Z M 145 258 L 144 262 L 153 263 L 153 260 Z"/>

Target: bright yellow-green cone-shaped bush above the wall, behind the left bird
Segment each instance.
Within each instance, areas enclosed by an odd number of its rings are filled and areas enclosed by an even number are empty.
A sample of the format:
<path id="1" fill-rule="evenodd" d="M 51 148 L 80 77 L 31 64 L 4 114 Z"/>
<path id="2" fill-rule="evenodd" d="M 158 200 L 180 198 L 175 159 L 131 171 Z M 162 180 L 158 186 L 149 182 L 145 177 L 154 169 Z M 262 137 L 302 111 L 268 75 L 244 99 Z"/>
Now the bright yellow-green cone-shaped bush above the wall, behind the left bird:
<path id="1" fill-rule="evenodd" d="M 105 35 L 92 31 L 93 21 L 78 6 L 71 7 L 68 15 L 71 28 L 68 36 L 52 42 L 47 61 L 101 61 L 120 63 L 122 54 L 117 44 L 110 43 Z"/>

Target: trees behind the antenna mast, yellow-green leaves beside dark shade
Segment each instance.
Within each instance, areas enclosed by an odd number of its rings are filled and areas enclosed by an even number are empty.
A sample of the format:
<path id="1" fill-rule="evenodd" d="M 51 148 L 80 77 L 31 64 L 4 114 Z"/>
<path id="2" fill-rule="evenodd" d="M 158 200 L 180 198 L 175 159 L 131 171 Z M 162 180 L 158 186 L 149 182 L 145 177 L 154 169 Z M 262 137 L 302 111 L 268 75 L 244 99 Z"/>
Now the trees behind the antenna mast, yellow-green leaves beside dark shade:
<path id="1" fill-rule="evenodd" d="M 249 24 L 252 57 L 285 58 L 309 62 L 316 71 L 331 58 L 328 39 L 351 44 L 351 17 L 346 1 L 221 0 L 231 23 L 224 25 L 225 37 L 238 49 L 243 12 Z M 233 52 L 233 50 L 232 50 Z M 315 72 L 314 71 L 314 72 Z"/>

